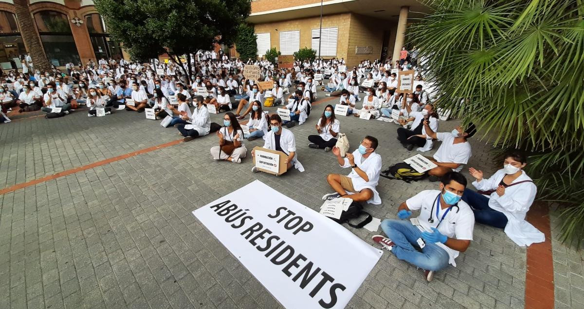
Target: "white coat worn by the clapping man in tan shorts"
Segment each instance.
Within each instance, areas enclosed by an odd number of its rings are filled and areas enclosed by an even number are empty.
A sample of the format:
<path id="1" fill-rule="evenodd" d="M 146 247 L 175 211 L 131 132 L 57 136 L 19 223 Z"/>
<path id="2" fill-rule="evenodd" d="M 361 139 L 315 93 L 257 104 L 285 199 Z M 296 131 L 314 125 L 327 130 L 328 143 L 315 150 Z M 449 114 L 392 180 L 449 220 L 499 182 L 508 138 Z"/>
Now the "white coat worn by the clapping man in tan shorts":
<path id="1" fill-rule="evenodd" d="M 354 169 L 351 170 L 351 173 L 349 173 L 347 177 L 351 178 L 351 181 L 353 182 L 353 188 L 355 188 L 357 191 L 355 193 L 358 193 L 363 189 L 369 189 L 373 191 L 373 197 L 371 197 L 371 199 L 367 202 L 374 205 L 381 204 L 381 198 L 379 197 L 379 193 L 377 193 L 375 188 L 377 183 L 379 183 L 379 174 L 381 172 L 381 156 L 376 152 L 372 152 L 369 154 L 369 157 L 361 162 L 362 156 L 359 152 L 359 149 L 356 149 L 353 152 L 353 156 L 357 167 L 364 171 L 367 174 L 367 178 L 369 178 L 369 181 L 365 181 L 363 177 L 359 176 L 359 174 L 357 174 Z M 345 165 L 341 167 L 343 167 L 343 169 L 347 169 L 349 167 L 352 168 L 351 164 L 349 163 L 349 159 L 345 158 Z"/>

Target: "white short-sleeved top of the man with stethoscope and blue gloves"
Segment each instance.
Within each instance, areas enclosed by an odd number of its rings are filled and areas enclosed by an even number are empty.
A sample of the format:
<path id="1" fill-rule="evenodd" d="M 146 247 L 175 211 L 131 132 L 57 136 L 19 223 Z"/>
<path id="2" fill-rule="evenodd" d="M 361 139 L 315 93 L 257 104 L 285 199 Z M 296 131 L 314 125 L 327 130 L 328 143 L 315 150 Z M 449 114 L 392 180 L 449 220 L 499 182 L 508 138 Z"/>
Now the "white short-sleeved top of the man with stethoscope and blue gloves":
<path id="1" fill-rule="evenodd" d="M 420 225 L 416 227 L 420 231 L 432 232 L 432 228 L 438 229 L 440 233 L 450 238 L 461 239 L 465 241 L 472 241 L 472 230 L 474 229 L 474 213 L 467 203 L 458 201 L 458 211 L 456 207 L 452 207 L 446 217 L 440 223 L 440 219 L 448 208 L 442 209 L 439 205 L 440 190 L 424 190 L 405 201 L 409 210 L 420 210 L 418 221 Z M 433 213 L 432 205 L 434 206 Z M 438 206 L 437 206 L 438 205 Z M 436 217 L 436 209 L 438 208 L 438 217 Z M 428 222 L 432 217 L 434 222 Z M 437 242 L 437 246 L 446 250 L 450 259 L 449 263 L 456 267 L 454 259 L 458 256 L 458 251 L 449 248 L 443 243 Z"/>

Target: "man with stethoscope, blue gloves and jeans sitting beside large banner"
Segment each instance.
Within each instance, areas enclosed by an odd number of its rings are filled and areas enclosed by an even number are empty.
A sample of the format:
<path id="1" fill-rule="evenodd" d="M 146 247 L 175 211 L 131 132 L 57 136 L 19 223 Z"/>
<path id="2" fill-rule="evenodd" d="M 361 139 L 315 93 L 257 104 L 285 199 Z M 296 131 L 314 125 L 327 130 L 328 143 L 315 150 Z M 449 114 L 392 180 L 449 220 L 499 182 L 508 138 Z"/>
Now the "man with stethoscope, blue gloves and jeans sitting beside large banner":
<path id="1" fill-rule="evenodd" d="M 440 181 L 440 190 L 424 190 L 402 202 L 399 219 L 381 222 L 387 237 L 372 237 L 398 259 L 425 270 L 427 281 L 449 264 L 456 267 L 454 259 L 470 245 L 475 222 L 471 208 L 461 201 L 467 179 L 449 171 Z M 407 220 L 416 210 L 418 217 Z"/>

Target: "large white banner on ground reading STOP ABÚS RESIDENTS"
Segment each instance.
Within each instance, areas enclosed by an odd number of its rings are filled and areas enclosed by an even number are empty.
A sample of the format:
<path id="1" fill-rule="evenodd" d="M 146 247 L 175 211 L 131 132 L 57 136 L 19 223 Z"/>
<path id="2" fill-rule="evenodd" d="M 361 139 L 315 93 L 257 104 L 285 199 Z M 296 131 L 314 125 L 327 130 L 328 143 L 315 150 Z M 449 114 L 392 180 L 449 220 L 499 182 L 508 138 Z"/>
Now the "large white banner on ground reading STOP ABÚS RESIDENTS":
<path id="1" fill-rule="evenodd" d="M 383 254 L 259 180 L 193 215 L 285 308 L 345 308 Z"/>

